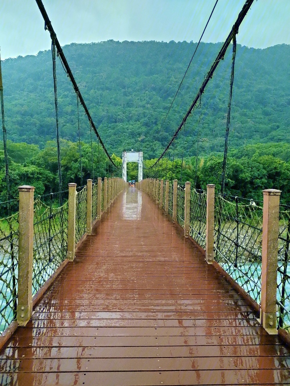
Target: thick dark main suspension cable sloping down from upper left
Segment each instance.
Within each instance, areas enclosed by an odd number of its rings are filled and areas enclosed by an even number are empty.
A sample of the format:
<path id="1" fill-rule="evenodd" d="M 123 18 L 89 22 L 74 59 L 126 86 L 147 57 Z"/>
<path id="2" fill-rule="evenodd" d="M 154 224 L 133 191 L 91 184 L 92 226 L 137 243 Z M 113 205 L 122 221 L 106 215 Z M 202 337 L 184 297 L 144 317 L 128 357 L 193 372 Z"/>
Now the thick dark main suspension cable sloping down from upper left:
<path id="1" fill-rule="evenodd" d="M 84 107 L 84 110 L 85 110 L 85 114 L 87 115 L 89 121 L 91 122 L 91 125 L 92 125 L 92 128 L 94 129 L 94 132 L 95 134 L 97 135 L 97 138 L 99 139 L 100 143 L 101 143 L 101 146 L 103 147 L 104 151 L 106 152 L 107 156 L 109 157 L 109 160 L 111 161 L 111 163 L 116 166 L 117 168 L 117 165 L 114 163 L 113 159 L 111 158 L 111 156 L 109 155 L 109 153 L 107 152 L 107 149 L 104 145 L 104 142 L 102 141 L 98 131 L 97 131 L 97 128 L 96 128 L 96 125 L 94 124 L 93 120 L 92 120 L 92 117 L 89 113 L 89 110 L 87 108 L 87 105 L 85 104 L 85 101 L 84 101 L 84 98 L 82 97 L 82 94 L 80 93 L 80 90 L 78 88 L 78 85 L 77 85 L 77 82 L 75 81 L 75 78 L 73 77 L 73 74 L 72 74 L 72 71 L 70 69 L 70 66 L 68 65 L 68 62 L 67 62 L 67 59 L 65 57 L 65 54 L 63 53 L 63 50 L 60 46 L 60 42 L 58 41 L 57 37 L 56 37 L 56 33 L 51 25 L 51 21 L 49 20 L 48 18 L 48 14 L 46 13 L 46 10 L 44 8 L 44 5 L 43 5 L 43 2 L 41 0 L 35 0 L 37 5 L 38 5 L 38 8 L 41 12 L 41 15 L 43 17 L 43 20 L 44 20 L 44 29 L 45 30 L 48 30 L 49 33 L 50 33 L 50 36 L 51 38 L 54 37 L 55 39 L 55 46 L 56 46 L 56 49 L 57 49 L 57 52 L 58 52 L 58 55 L 62 61 L 62 64 L 65 68 L 65 71 L 67 73 L 67 76 L 68 78 L 70 78 L 70 81 L 72 82 L 72 85 L 73 85 L 73 88 L 75 90 L 75 92 L 78 94 L 78 97 L 80 99 L 80 104 L 82 105 L 82 107 Z"/>

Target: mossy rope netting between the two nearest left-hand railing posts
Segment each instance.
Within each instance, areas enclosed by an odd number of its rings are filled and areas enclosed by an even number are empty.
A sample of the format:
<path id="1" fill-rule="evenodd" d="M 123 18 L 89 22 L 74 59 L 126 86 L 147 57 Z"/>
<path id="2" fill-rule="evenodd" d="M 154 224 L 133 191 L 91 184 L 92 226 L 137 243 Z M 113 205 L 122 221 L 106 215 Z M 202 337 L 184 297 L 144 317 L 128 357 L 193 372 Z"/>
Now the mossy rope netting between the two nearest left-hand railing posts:
<path id="1" fill-rule="evenodd" d="M 34 201 L 32 294 L 45 283 L 67 257 L 68 201 L 53 208 Z"/>

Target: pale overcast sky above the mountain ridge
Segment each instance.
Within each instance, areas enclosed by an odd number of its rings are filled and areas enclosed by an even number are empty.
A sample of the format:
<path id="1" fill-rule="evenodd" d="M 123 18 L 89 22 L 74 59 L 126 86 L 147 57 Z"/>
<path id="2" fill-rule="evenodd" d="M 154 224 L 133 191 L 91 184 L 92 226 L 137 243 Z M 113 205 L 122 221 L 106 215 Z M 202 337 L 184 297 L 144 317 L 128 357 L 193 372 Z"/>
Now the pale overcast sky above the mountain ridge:
<path id="1" fill-rule="evenodd" d="M 61 46 L 119 41 L 198 41 L 215 0 L 43 0 Z M 218 0 L 204 42 L 224 41 L 245 0 Z M 239 44 L 290 44 L 290 0 L 255 0 Z M 34 0 L 0 1 L 1 59 L 50 49 Z"/>

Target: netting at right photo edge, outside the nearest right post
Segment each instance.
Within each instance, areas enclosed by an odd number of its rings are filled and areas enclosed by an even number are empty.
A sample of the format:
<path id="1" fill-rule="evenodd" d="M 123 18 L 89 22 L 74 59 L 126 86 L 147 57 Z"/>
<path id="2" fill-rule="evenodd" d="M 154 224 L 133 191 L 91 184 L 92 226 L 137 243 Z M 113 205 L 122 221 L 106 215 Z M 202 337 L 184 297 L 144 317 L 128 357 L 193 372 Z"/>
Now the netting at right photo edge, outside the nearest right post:
<path id="1" fill-rule="evenodd" d="M 290 207 L 280 205 L 278 238 L 278 326 L 290 333 Z"/>

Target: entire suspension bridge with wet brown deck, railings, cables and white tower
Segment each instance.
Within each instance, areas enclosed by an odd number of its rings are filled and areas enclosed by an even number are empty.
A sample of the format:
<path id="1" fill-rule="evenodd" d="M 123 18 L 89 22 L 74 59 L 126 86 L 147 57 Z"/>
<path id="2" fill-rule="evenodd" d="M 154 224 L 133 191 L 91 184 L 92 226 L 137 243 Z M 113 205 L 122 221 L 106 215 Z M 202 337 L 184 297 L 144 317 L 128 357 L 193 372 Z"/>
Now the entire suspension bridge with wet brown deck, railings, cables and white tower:
<path id="1" fill-rule="evenodd" d="M 52 41 L 59 191 L 37 196 L 24 185 L 18 198 L 9 196 L 0 76 L 8 192 L 0 221 L 1 384 L 290 384 L 290 207 L 280 203 L 280 190 L 264 190 L 261 202 L 225 194 L 236 34 L 252 1 L 150 166 L 142 151 L 124 151 L 120 165 L 109 155 L 36 2 Z M 211 181 L 200 190 L 196 179 L 183 181 L 183 162 L 180 181 L 172 179 L 175 139 L 194 108 L 200 111 L 230 42 L 221 190 Z M 67 188 L 56 53 L 76 93 L 77 114 L 84 108 L 90 126 L 91 178 Z M 83 178 L 81 146 L 79 156 Z M 135 187 L 126 183 L 131 161 L 138 162 Z"/>

